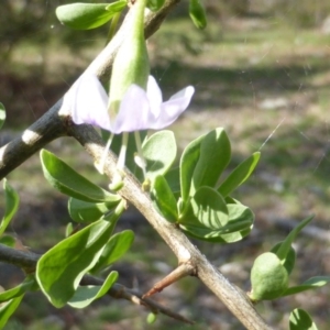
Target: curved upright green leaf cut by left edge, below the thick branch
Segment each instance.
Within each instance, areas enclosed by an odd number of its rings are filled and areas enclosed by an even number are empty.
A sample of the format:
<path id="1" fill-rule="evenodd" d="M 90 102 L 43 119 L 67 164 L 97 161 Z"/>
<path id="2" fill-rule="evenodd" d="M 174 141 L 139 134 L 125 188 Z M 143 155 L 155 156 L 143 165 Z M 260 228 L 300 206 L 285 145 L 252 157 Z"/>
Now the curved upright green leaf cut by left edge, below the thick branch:
<path id="1" fill-rule="evenodd" d="M 19 204 L 20 204 L 19 194 L 8 184 L 6 178 L 3 179 L 3 189 L 4 189 L 6 205 L 4 205 L 4 215 L 0 223 L 0 235 L 3 234 L 9 222 L 18 211 Z"/>

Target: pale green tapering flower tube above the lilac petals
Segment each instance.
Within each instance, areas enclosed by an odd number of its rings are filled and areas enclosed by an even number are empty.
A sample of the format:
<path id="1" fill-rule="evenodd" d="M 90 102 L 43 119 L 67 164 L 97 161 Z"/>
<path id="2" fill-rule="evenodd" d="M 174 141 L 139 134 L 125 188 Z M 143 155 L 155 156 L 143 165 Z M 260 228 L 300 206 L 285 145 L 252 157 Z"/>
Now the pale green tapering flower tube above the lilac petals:
<path id="1" fill-rule="evenodd" d="M 112 119 L 117 116 L 120 102 L 131 85 L 146 89 L 150 65 L 144 40 L 145 6 L 146 0 L 135 0 L 131 9 L 129 32 L 113 62 L 109 99 L 109 114 Z"/>

